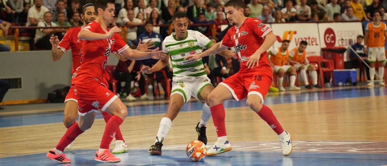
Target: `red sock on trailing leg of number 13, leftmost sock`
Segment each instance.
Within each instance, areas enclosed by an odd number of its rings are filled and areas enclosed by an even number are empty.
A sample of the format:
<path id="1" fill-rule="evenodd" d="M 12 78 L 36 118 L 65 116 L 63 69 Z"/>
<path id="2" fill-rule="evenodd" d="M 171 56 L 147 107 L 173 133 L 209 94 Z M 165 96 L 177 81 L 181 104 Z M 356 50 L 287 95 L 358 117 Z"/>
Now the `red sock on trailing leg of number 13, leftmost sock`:
<path id="1" fill-rule="evenodd" d="M 73 142 L 75 138 L 78 137 L 78 135 L 82 134 L 83 131 L 80 130 L 78 123 L 75 123 L 75 125 L 72 125 L 70 128 L 67 129 L 65 135 L 60 139 L 57 147 L 58 150 L 62 151 L 65 150 L 65 147 Z"/>

